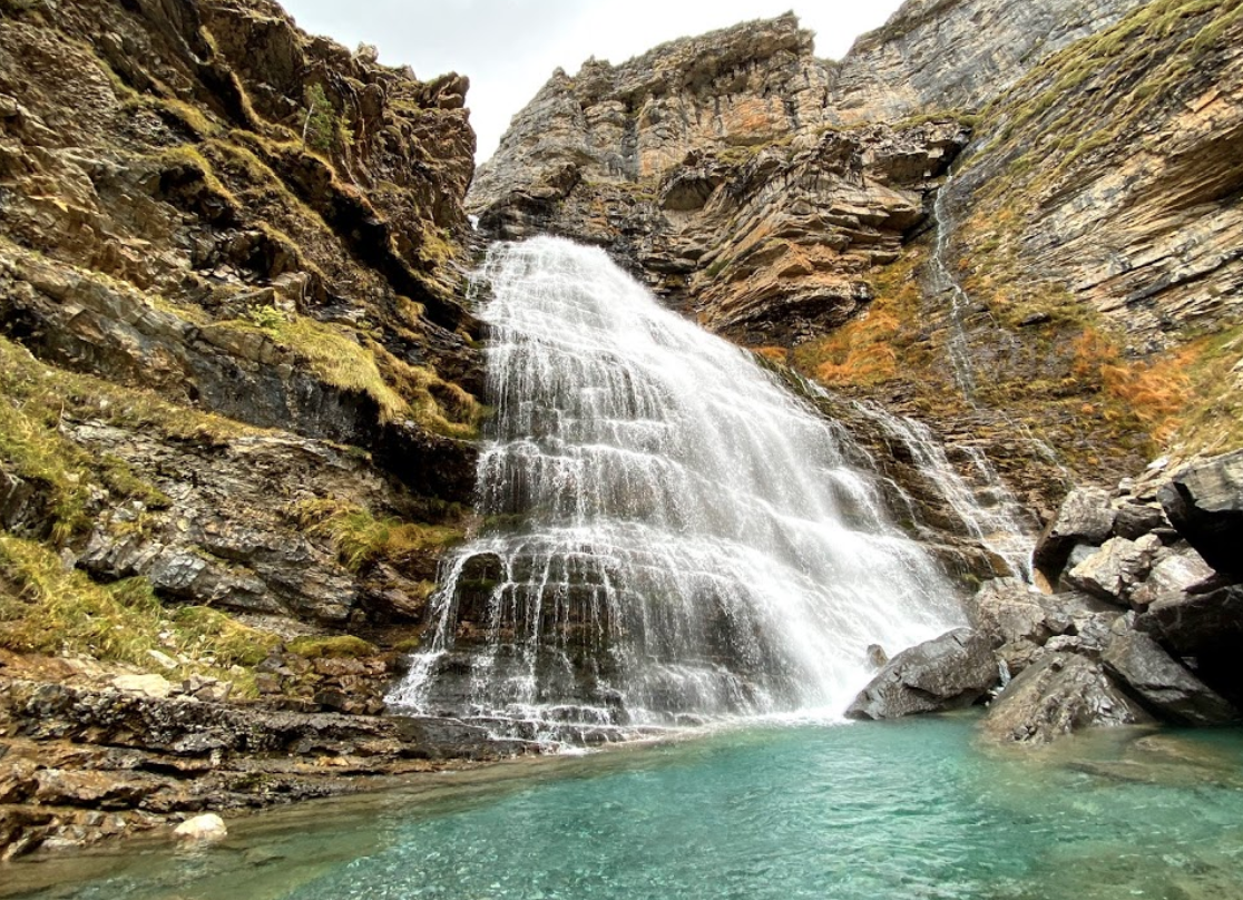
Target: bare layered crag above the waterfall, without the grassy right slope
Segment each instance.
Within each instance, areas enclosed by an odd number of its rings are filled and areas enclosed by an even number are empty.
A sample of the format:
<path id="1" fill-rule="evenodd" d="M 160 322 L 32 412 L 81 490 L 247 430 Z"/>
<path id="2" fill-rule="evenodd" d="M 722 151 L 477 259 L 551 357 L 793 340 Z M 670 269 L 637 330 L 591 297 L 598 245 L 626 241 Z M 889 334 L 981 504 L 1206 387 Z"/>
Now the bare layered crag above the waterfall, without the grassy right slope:
<path id="1" fill-rule="evenodd" d="M 589 60 L 515 118 L 471 205 L 502 237 L 608 246 L 710 329 L 788 346 L 859 312 L 924 221 L 970 133 L 927 113 L 977 108 L 1127 5 L 1008 4 L 981 31 L 979 2 L 911 2 L 840 65 L 792 15 Z M 946 46 L 963 65 L 940 63 Z"/>

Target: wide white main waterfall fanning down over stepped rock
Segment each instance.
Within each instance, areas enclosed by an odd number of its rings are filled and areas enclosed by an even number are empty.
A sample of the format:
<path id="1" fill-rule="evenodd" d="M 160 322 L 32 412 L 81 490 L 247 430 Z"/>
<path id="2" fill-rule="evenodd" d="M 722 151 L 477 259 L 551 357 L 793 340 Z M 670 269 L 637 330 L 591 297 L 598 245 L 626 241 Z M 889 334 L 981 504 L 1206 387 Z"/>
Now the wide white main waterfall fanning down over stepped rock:
<path id="1" fill-rule="evenodd" d="M 848 435 L 595 249 L 495 245 L 480 535 L 389 699 L 578 726 L 839 712 L 962 624 Z"/>

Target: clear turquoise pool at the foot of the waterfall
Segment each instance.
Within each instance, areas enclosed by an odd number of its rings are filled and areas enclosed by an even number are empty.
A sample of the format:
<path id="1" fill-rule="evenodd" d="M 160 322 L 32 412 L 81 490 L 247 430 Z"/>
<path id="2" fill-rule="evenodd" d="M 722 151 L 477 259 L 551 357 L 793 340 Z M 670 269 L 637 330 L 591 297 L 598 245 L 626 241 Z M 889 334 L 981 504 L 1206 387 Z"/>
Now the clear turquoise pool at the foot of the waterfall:
<path id="1" fill-rule="evenodd" d="M 526 761 L 0 869 L 0 896 L 1243 896 L 1243 731 L 982 752 L 968 716 L 753 725 Z M 52 884 L 31 889 L 30 885 Z"/>

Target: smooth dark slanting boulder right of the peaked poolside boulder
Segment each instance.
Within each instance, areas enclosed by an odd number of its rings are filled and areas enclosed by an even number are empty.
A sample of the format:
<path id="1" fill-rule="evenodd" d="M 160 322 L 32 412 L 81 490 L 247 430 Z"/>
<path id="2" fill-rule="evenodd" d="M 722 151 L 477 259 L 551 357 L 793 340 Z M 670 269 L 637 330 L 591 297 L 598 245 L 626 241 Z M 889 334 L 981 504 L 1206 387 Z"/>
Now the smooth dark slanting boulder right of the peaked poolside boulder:
<path id="1" fill-rule="evenodd" d="M 1116 635 L 1103 661 L 1110 675 L 1161 719 L 1181 725 L 1222 725 L 1238 717 L 1229 702 L 1142 631 Z"/>

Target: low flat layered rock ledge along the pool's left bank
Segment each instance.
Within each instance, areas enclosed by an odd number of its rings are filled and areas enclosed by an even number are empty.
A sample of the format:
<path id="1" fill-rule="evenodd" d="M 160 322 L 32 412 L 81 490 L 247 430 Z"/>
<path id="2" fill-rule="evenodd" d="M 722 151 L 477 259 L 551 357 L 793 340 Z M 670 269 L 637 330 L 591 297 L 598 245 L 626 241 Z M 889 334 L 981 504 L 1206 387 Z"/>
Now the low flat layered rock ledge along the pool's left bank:
<path id="1" fill-rule="evenodd" d="M 305 669 L 318 687 L 230 702 L 227 682 L 0 658 L 0 859 L 537 750 L 455 720 L 354 714 L 375 696 L 357 660 L 267 668 L 276 679 Z"/>

